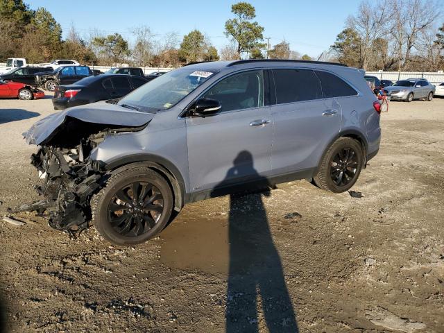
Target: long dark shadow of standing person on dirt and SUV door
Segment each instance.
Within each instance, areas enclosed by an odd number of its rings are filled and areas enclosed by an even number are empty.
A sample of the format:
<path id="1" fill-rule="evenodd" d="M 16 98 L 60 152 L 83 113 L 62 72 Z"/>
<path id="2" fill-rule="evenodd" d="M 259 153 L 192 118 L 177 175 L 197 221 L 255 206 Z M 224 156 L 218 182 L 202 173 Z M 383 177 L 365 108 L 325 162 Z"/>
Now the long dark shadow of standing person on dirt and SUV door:
<path id="1" fill-rule="evenodd" d="M 299 332 L 262 202 L 262 196 L 270 195 L 271 185 L 254 169 L 253 157 L 248 151 L 241 151 L 233 164 L 212 196 L 223 194 L 233 176 L 242 175 L 257 179 L 255 187 L 264 191 L 248 196 L 230 195 L 226 332 L 259 332 L 258 307 L 262 308 L 269 332 Z"/>

